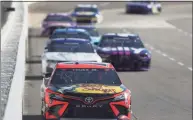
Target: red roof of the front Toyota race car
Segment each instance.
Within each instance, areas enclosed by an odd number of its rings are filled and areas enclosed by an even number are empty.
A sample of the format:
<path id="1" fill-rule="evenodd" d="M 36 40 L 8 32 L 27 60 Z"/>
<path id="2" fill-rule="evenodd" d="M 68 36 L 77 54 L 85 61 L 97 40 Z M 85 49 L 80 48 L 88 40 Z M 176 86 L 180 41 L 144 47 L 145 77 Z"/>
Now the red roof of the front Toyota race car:
<path id="1" fill-rule="evenodd" d="M 86 61 L 72 61 L 72 62 L 59 62 L 56 64 L 56 68 L 112 68 L 110 63 L 98 63 L 98 62 L 86 62 Z"/>

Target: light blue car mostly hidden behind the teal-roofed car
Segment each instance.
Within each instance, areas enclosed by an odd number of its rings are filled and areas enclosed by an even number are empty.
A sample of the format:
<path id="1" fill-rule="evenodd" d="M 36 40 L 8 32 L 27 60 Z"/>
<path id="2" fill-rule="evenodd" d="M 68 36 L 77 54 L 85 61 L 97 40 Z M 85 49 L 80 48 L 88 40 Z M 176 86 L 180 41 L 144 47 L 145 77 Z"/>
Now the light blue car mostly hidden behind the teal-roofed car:
<path id="1" fill-rule="evenodd" d="M 75 27 L 69 27 L 69 28 L 84 29 L 85 31 L 87 31 L 87 33 L 89 34 L 89 36 L 91 38 L 92 45 L 98 45 L 98 43 L 100 42 L 101 36 L 93 24 L 91 24 L 91 25 L 76 25 Z"/>

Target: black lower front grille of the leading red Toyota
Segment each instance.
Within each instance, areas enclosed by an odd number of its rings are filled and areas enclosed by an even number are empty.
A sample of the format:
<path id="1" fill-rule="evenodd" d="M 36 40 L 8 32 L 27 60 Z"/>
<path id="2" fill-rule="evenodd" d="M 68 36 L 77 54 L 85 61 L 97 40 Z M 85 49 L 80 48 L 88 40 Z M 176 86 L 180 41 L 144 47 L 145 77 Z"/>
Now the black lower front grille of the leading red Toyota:
<path id="1" fill-rule="evenodd" d="M 78 100 L 71 100 L 67 110 L 64 112 L 64 118 L 115 118 L 115 115 L 109 105 L 112 99 L 97 102 L 92 107 L 85 107 L 85 104 Z M 78 106 L 78 107 L 77 107 Z M 95 107 L 93 107 L 95 106 Z M 99 107 L 101 106 L 101 107 Z"/>

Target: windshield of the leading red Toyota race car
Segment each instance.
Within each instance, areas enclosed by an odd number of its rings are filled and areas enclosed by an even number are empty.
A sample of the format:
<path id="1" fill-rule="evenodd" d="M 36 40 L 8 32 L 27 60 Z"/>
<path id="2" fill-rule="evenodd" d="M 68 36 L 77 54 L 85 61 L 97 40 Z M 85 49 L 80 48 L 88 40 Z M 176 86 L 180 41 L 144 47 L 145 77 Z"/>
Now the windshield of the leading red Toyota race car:
<path id="1" fill-rule="evenodd" d="M 75 68 L 56 69 L 51 84 L 68 86 L 74 84 L 121 85 L 121 81 L 113 69 Z"/>

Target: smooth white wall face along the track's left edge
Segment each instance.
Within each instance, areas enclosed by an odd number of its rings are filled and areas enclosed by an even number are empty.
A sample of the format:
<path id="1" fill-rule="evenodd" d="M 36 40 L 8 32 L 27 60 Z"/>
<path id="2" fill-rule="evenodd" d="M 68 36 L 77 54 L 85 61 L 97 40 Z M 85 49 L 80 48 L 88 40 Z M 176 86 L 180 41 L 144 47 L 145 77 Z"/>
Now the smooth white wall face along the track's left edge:
<path id="1" fill-rule="evenodd" d="M 17 4 L 17 2 L 14 2 L 13 6 L 15 4 Z M 22 120 L 22 99 L 23 99 L 23 89 L 24 89 L 24 80 L 25 80 L 25 59 L 26 59 L 25 52 L 26 52 L 26 40 L 28 39 L 27 3 L 23 2 L 23 7 L 24 7 L 24 14 L 19 15 L 23 17 L 23 23 L 22 23 L 22 31 L 19 36 L 15 72 L 12 78 L 11 88 L 9 91 L 9 97 L 8 97 L 6 109 L 4 112 L 3 120 Z M 10 25 L 9 27 L 10 28 L 7 28 L 7 29 L 15 29 L 15 28 L 12 28 L 12 26 Z M 4 33 L 4 34 L 9 34 L 9 33 Z"/>

